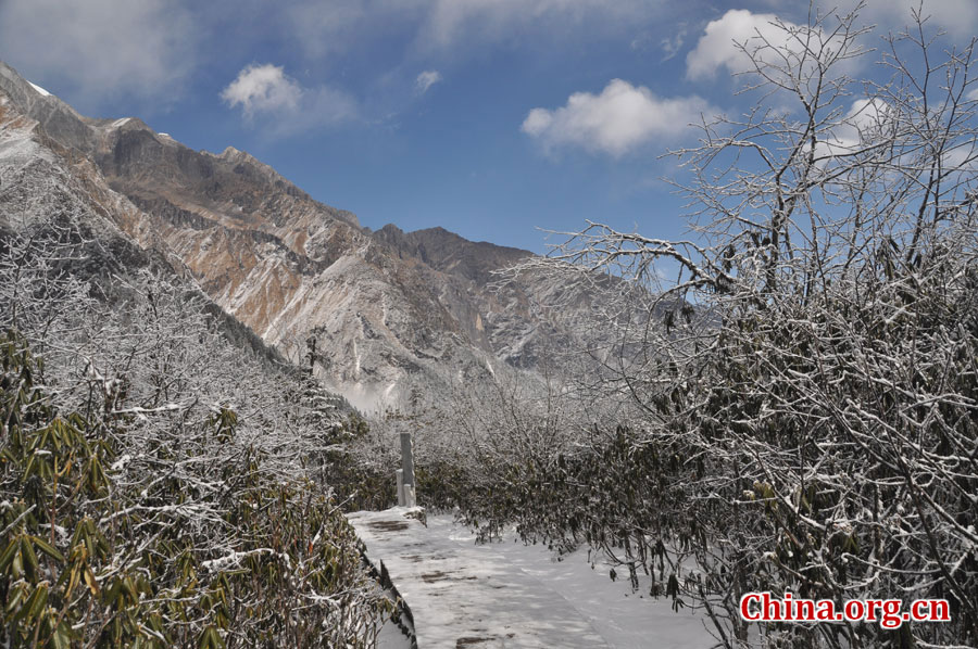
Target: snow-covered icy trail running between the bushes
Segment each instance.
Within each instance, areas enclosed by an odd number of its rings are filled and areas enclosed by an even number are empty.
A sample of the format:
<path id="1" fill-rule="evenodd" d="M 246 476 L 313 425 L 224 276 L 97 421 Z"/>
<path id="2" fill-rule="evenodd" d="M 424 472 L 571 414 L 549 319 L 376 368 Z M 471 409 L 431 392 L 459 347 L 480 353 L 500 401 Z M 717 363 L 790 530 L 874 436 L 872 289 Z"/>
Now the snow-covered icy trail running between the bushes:
<path id="1" fill-rule="evenodd" d="M 556 561 L 544 547 L 512 538 L 476 545 L 451 517 L 425 527 L 404 509 L 356 512 L 350 522 L 411 608 L 421 649 L 706 649 L 701 615 L 672 611 L 640 581 L 612 582 L 587 552 Z"/>

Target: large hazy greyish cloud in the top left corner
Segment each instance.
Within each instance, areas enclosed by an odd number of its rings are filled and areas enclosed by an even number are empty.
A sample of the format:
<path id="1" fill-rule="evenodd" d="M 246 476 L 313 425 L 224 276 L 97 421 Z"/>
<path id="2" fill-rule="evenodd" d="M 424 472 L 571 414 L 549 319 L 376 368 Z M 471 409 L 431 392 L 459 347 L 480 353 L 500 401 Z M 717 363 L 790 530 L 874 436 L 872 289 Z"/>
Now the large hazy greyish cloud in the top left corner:
<path id="1" fill-rule="evenodd" d="M 90 110 L 171 98 L 193 67 L 197 25 L 168 0 L 2 0 L 3 58 Z"/>

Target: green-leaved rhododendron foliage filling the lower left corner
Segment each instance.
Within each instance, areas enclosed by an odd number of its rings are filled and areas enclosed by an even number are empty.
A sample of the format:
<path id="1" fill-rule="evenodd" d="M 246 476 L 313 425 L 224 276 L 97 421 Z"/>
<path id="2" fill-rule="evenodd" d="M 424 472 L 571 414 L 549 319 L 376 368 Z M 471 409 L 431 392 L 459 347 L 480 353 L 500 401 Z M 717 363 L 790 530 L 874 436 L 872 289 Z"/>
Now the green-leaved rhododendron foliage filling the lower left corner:
<path id="1" fill-rule="evenodd" d="M 62 411 L 39 361 L 0 339 L 0 602 L 7 646 L 361 647 L 388 612 L 369 596 L 352 529 L 309 481 L 221 453 L 237 415 L 193 430 L 210 450 L 202 482 L 124 471 L 131 417 Z M 301 611 L 301 614 L 299 613 Z"/>

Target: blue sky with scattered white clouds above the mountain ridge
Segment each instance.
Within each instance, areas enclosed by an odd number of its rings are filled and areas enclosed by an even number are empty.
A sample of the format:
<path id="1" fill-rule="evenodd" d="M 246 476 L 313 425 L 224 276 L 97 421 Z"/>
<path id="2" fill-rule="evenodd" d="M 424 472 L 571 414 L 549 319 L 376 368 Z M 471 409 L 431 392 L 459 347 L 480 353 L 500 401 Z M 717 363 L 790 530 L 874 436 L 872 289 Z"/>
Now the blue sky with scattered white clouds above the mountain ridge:
<path id="1" fill-rule="evenodd" d="M 537 228 L 585 219 L 681 237 L 681 202 L 662 181 L 680 176 L 660 155 L 694 141 L 686 125 L 700 113 L 753 101 L 735 96 L 734 38 L 807 11 L 802 0 L 0 0 L 0 59 L 84 114 L 246 150 L 371 228 L 442 226 L 544 252 Z M 976 0 L 926 11 L 958 42 L 978 31 Z M 907 15 L 870 0 L 863 22 L 894 29 Z"/>

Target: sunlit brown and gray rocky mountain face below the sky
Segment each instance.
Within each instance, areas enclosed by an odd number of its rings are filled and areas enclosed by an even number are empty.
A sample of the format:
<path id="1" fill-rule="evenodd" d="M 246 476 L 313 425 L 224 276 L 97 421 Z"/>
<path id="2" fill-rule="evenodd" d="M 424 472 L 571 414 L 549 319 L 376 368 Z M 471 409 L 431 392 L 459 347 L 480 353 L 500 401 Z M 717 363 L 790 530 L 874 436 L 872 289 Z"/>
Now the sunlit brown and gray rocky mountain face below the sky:
<path id="1" fill-rule="evenodd" d="M 592 308 L 586 290 L 544 277 L 493 289 L 493 271 L 527 251 L 441 228 L 371 232 L 248 153 L 193 151 L 136 118 L 83 117 L 3 64 L 0 101 L 33 124 L 23 156 L 58 150 L 87 165 L 96 189 L 72 191 L 104 194 L 104 218 L 128 241 L 286 357 L 300 361 L 315 339 L 317 371 L 361 408 L 403 407 L 421 386 L 487 379 L 501 362 L 532 370 L 579 336 Z M 560 313 L 536 307 L 559 293 Z"/>

